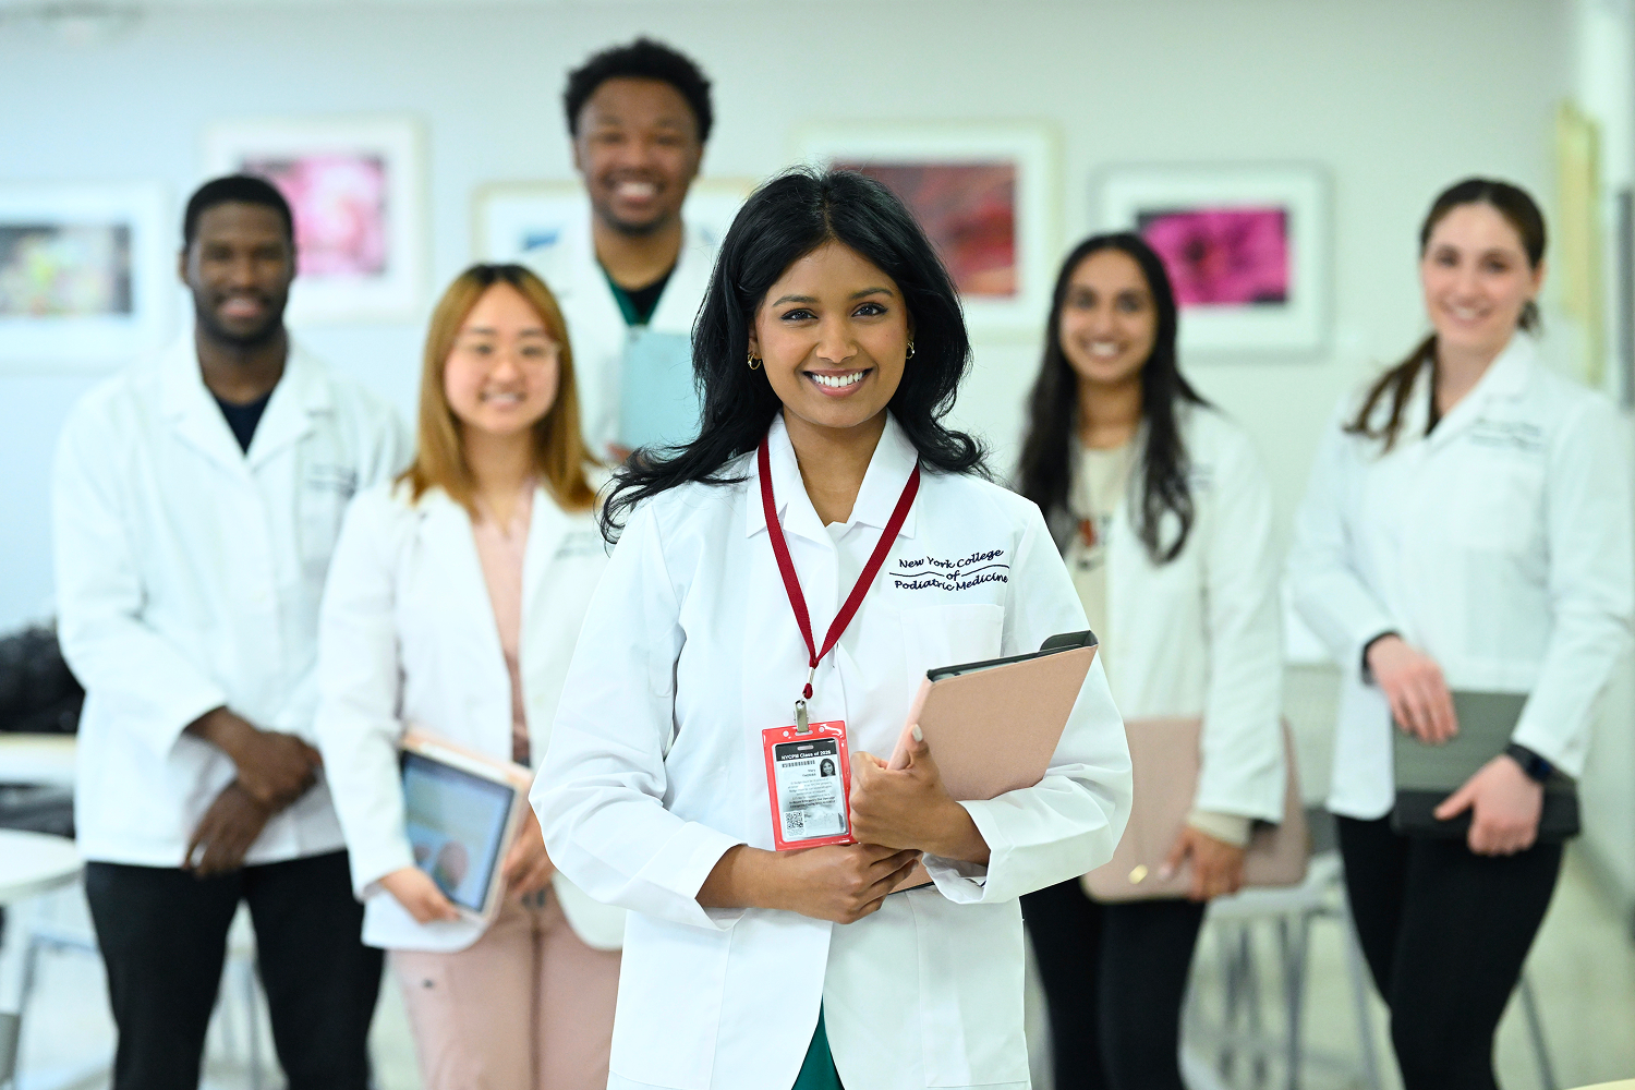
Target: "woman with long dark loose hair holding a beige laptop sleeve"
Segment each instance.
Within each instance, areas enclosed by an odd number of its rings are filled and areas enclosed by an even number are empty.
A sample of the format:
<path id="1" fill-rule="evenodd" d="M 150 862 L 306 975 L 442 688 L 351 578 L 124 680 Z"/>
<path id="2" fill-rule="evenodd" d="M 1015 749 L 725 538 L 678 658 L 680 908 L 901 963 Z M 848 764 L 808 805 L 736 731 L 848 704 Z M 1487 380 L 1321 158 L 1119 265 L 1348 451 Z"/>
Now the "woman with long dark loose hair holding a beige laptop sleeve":
<path id="1" fill-rule="evenodd" d="M 1022 899 L 1056 1087 L 1179 1090 L 1205 902 L 1241 884 L 1251 822 L 1282 820 L 1282 654 L 1265 472 L 1180 376 L 1174 291 L 1138 235 L 1087 239 L 1061 266 L 1020 490 L 1068 561 L 1128 727 L 1203 719 L 1192 812 L 1166 863 L 1190 858 L 1189 899 L 1104 905 L 1077 881 Z"/>

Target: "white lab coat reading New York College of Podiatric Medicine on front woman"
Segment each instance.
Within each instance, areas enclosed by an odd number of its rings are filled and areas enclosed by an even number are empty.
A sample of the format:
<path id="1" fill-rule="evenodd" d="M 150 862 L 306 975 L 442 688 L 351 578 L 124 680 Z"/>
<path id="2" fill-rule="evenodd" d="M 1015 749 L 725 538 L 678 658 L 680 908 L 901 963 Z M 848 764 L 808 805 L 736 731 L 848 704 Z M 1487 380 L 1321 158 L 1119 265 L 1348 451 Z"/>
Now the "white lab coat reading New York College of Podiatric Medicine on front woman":
<path id="1" fill-rule="evenodd" d="M 891 420 L 852 521 L 831 533 L 782 418 L 770 441 L 821 634 L 916 453 Z M 992 851 L 986 868 L 927 858 L 935 887 L 894 894 L 849 927 L 701 909 L 698 887 L 728 848 L 772 848 L 760 732 L 793 721 L 808 673 L 754 454 L 728 476 L 744 479 L 679 487 L 631 516 L 533 791 L 551 858 L 594 897 L 631 909 L 608 1087 L 790 1087 L 819 1003 L 849 1090 L 1025 1087 L 1017 897 L 1110 858 L 1130 812 L 1130 753 L 1100 665 L 1045 780 L 965 804 Z M 886 755 L 927 668 L 1037 650 L 1082 628 L 1038 508 L 976 477 L 925 472 L 881 575 L 818 667 L 811 717 L 844 719 L 853 752 Z"/>

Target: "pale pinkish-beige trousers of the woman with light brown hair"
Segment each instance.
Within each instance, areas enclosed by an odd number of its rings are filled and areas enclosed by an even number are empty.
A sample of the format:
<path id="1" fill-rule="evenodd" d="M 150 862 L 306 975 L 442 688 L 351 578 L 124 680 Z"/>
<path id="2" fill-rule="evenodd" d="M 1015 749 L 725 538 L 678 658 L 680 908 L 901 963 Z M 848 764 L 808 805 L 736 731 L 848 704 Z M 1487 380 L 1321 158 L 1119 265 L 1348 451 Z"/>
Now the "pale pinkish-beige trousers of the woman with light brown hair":
<path id="1" fill-rule="evenodd" d="M 507 897 L 466 949 L 394 949 L 425 1090 L 605 1090 L 618 964 L 556 894 L 538 909 Z"/>

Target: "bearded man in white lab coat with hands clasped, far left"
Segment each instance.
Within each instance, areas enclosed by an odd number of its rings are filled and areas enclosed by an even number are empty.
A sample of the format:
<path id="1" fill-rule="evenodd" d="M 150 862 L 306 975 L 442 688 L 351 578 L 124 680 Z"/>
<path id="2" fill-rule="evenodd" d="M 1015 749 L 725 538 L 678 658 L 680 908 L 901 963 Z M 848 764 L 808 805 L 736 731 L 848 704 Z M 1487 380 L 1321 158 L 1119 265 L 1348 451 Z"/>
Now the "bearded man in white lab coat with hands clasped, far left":
<path id="1" fill-rule="evenodd" d="M 116 1090 L 198 1087 L 227 928 L 257 931 L 291 1090 L 368 1085 L 363 946 L 314 748 L 317 608 L 352 494 L 407 461 L 396 415 L 291 345 L 289 206 L 188 203 L 195 328 L 64 427 L 59 634 L 85 685 L 75 822 L 119 1028 Z"/>

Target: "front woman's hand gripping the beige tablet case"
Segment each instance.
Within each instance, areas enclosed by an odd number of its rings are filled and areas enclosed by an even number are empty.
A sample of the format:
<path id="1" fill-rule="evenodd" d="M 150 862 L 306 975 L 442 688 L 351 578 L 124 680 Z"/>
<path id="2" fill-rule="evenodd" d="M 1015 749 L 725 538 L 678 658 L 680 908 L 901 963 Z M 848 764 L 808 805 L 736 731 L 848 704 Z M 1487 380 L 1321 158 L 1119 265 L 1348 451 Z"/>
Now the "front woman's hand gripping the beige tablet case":
<path id="1" fill-rule="evenodd" d="M 852 835 L 862 843 L 988 864 L 988 842 L 948 794 L 917 726 L 906 732 L 889 765 L 873 753 L 852 757 Z"/>

